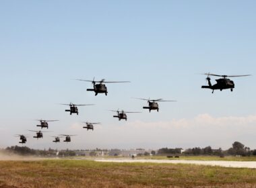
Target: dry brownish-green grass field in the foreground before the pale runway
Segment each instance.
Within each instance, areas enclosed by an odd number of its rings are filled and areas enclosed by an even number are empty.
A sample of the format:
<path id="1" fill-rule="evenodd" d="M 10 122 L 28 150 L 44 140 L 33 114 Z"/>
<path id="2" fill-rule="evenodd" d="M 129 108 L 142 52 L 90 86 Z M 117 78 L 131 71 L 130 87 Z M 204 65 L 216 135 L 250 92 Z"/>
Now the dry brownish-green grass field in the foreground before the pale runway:
<path id="1" fill-rule="evenodd" d="M 0 161 L 0 187 L 256 187 L 256 170 L 88 160 Z"/>

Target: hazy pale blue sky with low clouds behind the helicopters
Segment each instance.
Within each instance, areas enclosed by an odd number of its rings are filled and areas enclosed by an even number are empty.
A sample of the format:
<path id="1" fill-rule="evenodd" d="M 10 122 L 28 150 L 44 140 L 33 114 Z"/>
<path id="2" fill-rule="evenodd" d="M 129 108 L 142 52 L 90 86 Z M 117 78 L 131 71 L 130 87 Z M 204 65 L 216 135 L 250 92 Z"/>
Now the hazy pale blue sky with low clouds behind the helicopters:
<path id="1" fill-rule="evenodd" d="M 255 1 L 0 1 L 0 147 L 57 119 L 32 148 L 256 148 Z M 201 89 L 205 76 L 234 78 L 234 92 Z M 73 79 L 109 84 L 108 97 Z M 213 78 L 214 83 L 214 78 Z M 142 109 L 143 97 L 160 112 Z M 69 115 L 58 103 L 95 103 Z M 127 122 L 108 109 L 141 111 Z M 102 122 L 94 132 L 81 122 Z M 70 144 L 50 136 L 77 134 Z"/>

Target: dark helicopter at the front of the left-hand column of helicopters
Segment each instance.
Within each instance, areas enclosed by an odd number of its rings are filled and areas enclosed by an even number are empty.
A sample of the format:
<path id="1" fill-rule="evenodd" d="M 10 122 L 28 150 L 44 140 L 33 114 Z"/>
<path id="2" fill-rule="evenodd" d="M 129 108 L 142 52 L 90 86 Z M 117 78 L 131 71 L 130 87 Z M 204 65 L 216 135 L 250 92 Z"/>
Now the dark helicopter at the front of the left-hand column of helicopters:
<path id="1" fill-rule="evenodd" d="M 95 78 L 94 78 L 95 79 Z M 108 89 L 106 88 L 106 85 L 104 83 L 130 83 L 129 81 L 105 81 L 105 79 L 102 79 L 101 81 L 87 81 L 87 80 L 81 80 L 76 79 L 77 81 L 86 81 L 91 82 L 94 85 L 94 89 L 87 89 L 87 91 L 94 91 L 95 96 L 98 95 L 98 93 L 105 93 L 105 95 L 108 95 Z"/>

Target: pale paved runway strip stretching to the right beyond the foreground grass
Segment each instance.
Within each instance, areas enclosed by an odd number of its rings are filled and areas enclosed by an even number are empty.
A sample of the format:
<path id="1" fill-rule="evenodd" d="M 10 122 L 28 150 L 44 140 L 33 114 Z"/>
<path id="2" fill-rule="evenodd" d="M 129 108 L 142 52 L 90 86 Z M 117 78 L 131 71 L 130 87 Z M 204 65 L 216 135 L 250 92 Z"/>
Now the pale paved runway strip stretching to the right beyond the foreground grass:
<path id="1" fill-rule="evenodd" d="M 218 160 L 144 160 L 144 159 L 121 159 L 121 158 L 110 158 L 110 159 L 94 159 L 97 162 L 152 162 L 160 164 L 197 164 L 205 166 L 218 166 L 218 167 L 229 167 L 229 168 L 247 168 L 256 169 L 256 161 L 241 162 L 241 161 L 218 161 Z"/>

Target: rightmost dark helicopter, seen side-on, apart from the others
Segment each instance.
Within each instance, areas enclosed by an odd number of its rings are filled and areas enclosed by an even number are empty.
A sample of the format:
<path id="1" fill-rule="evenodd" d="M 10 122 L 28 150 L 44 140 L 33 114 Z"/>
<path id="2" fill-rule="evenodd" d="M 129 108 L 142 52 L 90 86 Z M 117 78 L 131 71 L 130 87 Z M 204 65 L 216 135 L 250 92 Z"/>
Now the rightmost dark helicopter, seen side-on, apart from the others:
<path id="1" fill-rule="evenodd" d="M 212 93 L 214 93 L 214 90 L 220 90 L 223 89 L 230 89 L 230 91 L 233 91 L 234 89 L 234 81 L 231 81 L 230 79 L 227 79 L 228 77 L 249 77 L 251 75 L 236 75 L 236 76 L 228 76 L 228 75 L 215 75 L 210 73 L 205 73 L 203 75 L 207 75 L 206 80 L 208 81 L 208 85 L 203 85 L 201 88 L 203 89 L 212 89 Z M 216 84 L 212 85 L 210 76 L 214 77 L 222 77 L 222 79 L 216 79 Z"/>

